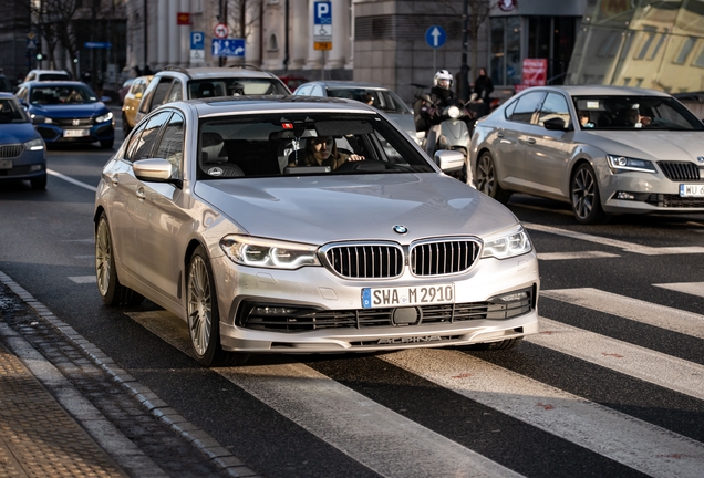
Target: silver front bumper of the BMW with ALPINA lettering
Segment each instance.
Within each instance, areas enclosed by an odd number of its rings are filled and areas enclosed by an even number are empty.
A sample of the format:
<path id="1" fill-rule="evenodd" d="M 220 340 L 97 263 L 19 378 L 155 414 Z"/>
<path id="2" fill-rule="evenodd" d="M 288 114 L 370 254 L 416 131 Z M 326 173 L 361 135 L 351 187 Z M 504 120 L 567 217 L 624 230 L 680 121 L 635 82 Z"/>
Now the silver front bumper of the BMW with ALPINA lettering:
<path id="1" fill-rule="evenodd" d="M 322 267 L 302 268 L 297 271 L 241 268 L 227 258 L 214 262 L 218 304 L 220 308 L 220 342 L 227 351 L 265 353 L 342 353 L 373 352 L 411 347 L 436 347 L 498 342 L 538 332 L 538 260 L 535 252 L 497 260 L 480 259 L 467 273 L 444 278 L 417 278 L 405 274 L 386 281 L 356 281 L 341 279 Z M 424 322 L 426 305 L 416 308 L 417 320 L 397 324 L 394 321 L 364 323 L 358 321 L 334 324 L 321 321 L 308 322 L 300 328 L 293 322 L 272 330 L 242 326 L 242 313 L 251 304 L 271 308 L 310 308 L 322 315 L 360 316 L 396 309 L 363 309 L 362 288 L 390 288 L 398 285 L 448 284 L 455 287 L 456 309 L 479 310 L 470 319 L 448 319 Z M 496 313 L 480 313 L 493 298 L 516 291 L 530 291 L 530 304 L 518 315 L 497 318 Z M 429 309 L 432 309 L 431 306 Z M 478 309 L 477 309 L 478 308 Z M 420 309 L 420 311 L 418 311 Z M 490 306 L 489 306 L 490 309 Z M 412 314 L 414 312 L 411 312 Z M 500 313 L 498 315 L 501 315 Z M 428 315 L 429 316 L 429 315 Z M 452 315 L 455 318 L 455 315 Z"/>

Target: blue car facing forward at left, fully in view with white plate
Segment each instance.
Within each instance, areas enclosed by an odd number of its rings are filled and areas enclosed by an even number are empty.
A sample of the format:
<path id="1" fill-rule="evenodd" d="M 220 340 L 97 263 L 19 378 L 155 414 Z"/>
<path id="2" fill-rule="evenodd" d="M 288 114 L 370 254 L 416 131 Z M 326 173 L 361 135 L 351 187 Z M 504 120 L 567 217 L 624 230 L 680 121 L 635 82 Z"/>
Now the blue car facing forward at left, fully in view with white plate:
<path id="1" fill-rule="evenodd" d="M 113 113 L 85 83 L 25 82 L 17 97 L 48 144 L 100 142 L 101 147 L 113 147 Z"/>

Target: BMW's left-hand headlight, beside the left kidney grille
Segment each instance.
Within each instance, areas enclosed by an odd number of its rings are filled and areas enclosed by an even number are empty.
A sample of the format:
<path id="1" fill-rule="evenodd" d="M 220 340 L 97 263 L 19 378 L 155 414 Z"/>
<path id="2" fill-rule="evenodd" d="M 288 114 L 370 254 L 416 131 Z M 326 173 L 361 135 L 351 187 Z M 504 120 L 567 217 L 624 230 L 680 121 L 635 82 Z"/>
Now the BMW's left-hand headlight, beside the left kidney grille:
<path id="1" fill-rule="evenodd" d="M 232 262 L 242 266 L 272 269 L 320 266 L 317 246 L 231 235 L 220 239 L 220 248 Z"/>

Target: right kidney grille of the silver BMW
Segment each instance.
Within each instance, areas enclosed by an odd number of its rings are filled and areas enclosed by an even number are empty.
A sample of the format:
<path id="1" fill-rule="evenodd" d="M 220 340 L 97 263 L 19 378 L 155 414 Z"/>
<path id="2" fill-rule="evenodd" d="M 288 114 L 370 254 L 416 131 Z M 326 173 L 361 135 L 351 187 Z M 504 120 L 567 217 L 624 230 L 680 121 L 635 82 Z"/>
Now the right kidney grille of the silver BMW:
<path id="1" fill-rule="evenodd" d="M 414 276 L 464 272 L 474 266 L 479 249 L 479 243 L 469 239 L 422 242 L 411 249 L 411 270 Z"/>

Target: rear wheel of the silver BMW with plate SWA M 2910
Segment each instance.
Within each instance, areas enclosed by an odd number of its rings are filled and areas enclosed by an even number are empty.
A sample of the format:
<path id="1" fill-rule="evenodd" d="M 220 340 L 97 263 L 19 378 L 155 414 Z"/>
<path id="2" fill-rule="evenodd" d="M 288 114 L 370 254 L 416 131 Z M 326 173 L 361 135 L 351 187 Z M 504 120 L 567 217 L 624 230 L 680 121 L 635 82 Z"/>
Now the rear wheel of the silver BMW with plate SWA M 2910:
<path id="1" fill-rule="evenodd" d="M 142 294 L 124 287 L 117 279 L 113 240 L 105 212 L 101 214 L 95 228 L 95 278 L 105 305 L 138 305 L 144 301 Z"/>

